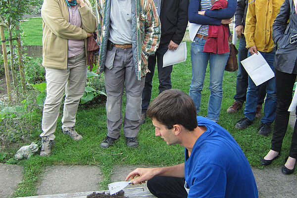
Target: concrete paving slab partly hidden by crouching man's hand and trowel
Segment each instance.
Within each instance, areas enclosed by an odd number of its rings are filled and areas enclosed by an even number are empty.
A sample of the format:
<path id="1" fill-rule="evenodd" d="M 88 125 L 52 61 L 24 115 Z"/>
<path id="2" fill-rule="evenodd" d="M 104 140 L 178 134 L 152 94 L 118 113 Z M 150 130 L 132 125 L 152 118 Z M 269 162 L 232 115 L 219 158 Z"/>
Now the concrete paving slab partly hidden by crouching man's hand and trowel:
<path id="1" fill-rule="evenodd" d="M 111 176 L 111 182 L 120 182 L 125 181 L 127 175 L 135 170 L 136 168 L 145 168 L 146 166 L 136 165 L 136 166 L 124 166 L 124 165 L 115 165 L 113 167 L 113 174 Z M 147 187 L 147 183 L 145 184 L 136 184 L 136 185 L 128 185 L 126 188 L 138 188 L 138 187 Z"/>

